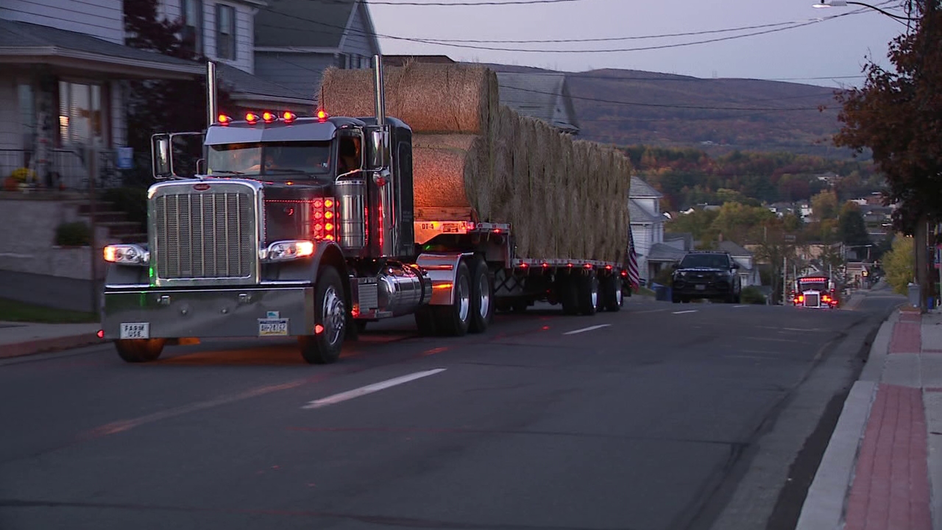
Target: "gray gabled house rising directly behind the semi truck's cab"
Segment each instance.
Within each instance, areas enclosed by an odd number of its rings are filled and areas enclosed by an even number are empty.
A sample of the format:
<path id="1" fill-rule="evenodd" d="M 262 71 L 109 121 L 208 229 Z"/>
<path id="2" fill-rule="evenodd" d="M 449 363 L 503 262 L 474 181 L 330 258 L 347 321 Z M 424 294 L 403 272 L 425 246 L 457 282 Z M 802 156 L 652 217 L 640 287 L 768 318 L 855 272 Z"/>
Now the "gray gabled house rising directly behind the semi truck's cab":
<path id="1" fill-rule="evenodd" d="M 317 99 L 330 66 L 370 68 L 380 54 L 369 8 L 361 0 L 269 0 L 255 15 L 254 74 Z"/>

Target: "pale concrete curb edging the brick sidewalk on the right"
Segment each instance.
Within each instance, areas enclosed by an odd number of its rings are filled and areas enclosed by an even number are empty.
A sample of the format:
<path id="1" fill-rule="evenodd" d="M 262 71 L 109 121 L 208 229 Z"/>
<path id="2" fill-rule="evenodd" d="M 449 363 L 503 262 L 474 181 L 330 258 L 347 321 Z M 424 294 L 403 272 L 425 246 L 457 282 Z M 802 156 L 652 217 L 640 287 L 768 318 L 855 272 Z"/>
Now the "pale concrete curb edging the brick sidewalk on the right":
<path id="1" fill-rule="evenodd" d="M 833 530 L 843 526 L 844 505 L 851 492 L 870 406 L 880 385 L 893 323 L 896 321 L 893 317 L 891 315 L 880 325 L 870 346 L 867 366 L 844 401 L 834 433 L 804 498 L 795 530 Z"/>

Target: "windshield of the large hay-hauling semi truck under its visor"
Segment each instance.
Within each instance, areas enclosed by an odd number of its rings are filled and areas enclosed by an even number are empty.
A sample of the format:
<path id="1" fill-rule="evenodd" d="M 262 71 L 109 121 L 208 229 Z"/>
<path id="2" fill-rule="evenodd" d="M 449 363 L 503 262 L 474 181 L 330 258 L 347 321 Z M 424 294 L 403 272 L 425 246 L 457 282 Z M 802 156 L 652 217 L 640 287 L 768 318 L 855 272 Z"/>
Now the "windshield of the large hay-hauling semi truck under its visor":
<path id="1" fill-rule="evenodd" d="M 327 178 L 330 141 L 267 141 L 210 145 L 206 173 L 217 176 L 265 176 L 266 180 Z"/>

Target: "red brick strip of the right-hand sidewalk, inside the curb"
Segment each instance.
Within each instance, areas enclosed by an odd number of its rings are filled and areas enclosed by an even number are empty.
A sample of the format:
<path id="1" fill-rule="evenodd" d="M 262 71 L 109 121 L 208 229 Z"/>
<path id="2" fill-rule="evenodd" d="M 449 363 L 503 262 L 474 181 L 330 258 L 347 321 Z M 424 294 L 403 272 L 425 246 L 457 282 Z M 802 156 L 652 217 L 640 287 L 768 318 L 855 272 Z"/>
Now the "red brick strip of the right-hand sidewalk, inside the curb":
<path id="1" fill-rule="evenodd" d="M 846 530 L 932 530 L 932 496 L 921 357 L 923 318 L 901 312 L 893 324 L 884 379 L 857 457 L 847 499 Z M 938 346 L 938 345 L 934 345 Z M 932 354 L 937 356 L 937 354 Z M 908 374 L 899 377 L 899 374 Z"/>

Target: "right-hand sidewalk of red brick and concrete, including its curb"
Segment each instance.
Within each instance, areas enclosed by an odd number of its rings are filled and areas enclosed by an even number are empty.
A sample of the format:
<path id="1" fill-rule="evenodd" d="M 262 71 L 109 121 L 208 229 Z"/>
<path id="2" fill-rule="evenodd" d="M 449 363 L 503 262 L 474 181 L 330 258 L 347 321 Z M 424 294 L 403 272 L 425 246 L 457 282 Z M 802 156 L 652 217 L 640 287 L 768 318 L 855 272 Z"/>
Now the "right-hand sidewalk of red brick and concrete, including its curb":
<path id="1" fill-rule="evenodd" d="M 942 312 L 881 326 L 796 530 L 942 530 Z"/>

